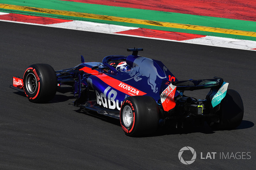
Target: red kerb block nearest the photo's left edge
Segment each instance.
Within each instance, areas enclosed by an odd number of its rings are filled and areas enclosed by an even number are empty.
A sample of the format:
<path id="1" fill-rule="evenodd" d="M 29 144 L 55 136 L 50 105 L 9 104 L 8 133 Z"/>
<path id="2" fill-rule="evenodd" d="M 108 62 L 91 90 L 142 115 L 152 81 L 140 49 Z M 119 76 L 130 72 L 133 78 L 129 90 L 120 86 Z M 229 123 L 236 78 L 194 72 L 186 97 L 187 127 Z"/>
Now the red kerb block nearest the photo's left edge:
<path id="1" fill-rule="evenodd" d="M 36 16 L 30 16 L 30 15 L 21 15 L 21 14 L 12 14 L 12 13 L 0 15 L 0 19 L 8 20 L 8 21 L 33 23 L 33 24 L 44 24 L 44 25 L 73 21 L 73 20 L 67 20 L 67 19 L 36 17 Z"/>

